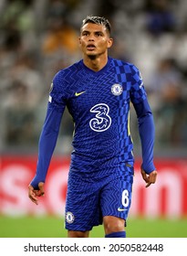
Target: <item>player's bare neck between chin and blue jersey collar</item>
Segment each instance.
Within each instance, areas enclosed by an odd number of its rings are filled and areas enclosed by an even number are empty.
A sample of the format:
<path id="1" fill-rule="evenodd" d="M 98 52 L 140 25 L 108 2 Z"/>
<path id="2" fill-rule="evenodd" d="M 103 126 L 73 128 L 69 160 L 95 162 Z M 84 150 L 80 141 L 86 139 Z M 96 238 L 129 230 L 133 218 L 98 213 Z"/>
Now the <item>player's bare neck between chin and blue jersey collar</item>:
<path id="1" fill-rule="evenodd" d="M 108 56 L 100 56 L 100 57 L 86 57 L 83 59 L 83 62 L 85 66 L 88 67 L 88 69 L 92 69 L 94 71 L 99 71 L 100 69 L 103 69 L 108 62 Z"/>

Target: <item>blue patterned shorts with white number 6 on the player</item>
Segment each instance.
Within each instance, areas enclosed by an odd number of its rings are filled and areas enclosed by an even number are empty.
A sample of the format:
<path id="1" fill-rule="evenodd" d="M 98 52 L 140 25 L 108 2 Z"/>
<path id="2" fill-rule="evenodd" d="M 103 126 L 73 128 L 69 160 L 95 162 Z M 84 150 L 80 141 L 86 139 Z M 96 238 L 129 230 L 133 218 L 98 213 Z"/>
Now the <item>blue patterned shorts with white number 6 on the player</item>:
<path id="1" fill-rule="evenodd" d="M 125 166 L 97 178 L 69 172 L 65 228 L 87 231 L 104 216 L 127 219 L 131 204 L 133 167 Z M 102 176 L 102 178 L 101 178 Z"/>

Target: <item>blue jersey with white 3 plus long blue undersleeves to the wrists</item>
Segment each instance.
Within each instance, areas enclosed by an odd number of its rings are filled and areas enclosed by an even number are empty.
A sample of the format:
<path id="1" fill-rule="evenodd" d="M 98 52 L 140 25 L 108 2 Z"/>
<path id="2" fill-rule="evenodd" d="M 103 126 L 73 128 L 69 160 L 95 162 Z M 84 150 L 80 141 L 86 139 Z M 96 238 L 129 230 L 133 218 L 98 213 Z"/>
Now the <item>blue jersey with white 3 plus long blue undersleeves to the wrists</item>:
<path id="1" fill-rule="evenodd" d="M 47 116 L 40 135 L 36 176 L 31 185 L 45 182 L 66 107 L 75 123 L 74 151 L 70 171 L 105 176 L 116 167 L 134 163 L 130 136 L 130 102 L 139 122 L 142 168 L 153 165 L 154 124 L 139 69 L 131 63 L 109 58 L 95 72 L 79 60 L 55 75 L 48 99 Z M 93 175 L 93 176 L 92 176 Z"/>

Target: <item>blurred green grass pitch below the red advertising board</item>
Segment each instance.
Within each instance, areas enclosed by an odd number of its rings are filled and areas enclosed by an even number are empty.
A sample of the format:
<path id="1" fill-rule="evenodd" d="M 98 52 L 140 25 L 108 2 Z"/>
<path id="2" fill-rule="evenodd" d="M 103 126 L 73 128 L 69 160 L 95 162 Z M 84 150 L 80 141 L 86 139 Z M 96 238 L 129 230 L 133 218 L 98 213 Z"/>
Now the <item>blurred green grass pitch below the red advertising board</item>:
<path id="1" fill-rule="evenodd" d="M 187 219 L 129 219 L 129 238 L 187 238 Z M 0 238 L 66 238 L 64 219 L 0 216 Z M 103 227 L 90 231 L 90 238 L 103 238 Z"/>

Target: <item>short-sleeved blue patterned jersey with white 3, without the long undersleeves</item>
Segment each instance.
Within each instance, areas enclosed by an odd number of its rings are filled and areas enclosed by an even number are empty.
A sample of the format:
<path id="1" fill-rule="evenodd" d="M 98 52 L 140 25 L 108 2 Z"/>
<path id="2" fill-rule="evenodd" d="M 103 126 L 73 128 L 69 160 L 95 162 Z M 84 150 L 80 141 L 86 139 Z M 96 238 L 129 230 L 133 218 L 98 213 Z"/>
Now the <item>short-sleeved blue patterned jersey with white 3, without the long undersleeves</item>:
<path id="1" fill-rule="evenodd" d="M 75 133 L 72 164 L 81 160 L 83 172 L 133 164 L 130 136 L 130 101 L 144 101 L 146 91 L 140 71 L 133 64 L 111 59 L 98 72 L 83 60 L 60 70 L 53 80 L 49 109 L 73 117 Z"/>

